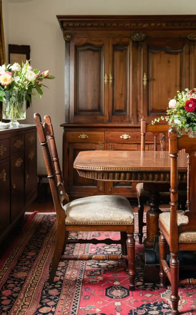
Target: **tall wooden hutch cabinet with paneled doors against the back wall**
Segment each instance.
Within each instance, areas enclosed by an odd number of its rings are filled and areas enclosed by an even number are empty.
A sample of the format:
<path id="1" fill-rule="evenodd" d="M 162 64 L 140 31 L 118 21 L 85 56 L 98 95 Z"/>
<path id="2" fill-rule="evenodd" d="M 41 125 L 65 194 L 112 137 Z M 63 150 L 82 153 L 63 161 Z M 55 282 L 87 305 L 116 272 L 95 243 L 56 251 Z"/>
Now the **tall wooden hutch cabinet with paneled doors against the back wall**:
<path id="1" fill-rule="evenodd" d="M 65 39 L 63 175 L 71 198 L 136 197 L 131 183 L 80 178 L 83 150 L 140 150 L 140 119 L 166 113 L 177 90 L 195 88 L 195 15 L 57 16 Z M 153 149 L 147 135 L 146 150 Z"/>

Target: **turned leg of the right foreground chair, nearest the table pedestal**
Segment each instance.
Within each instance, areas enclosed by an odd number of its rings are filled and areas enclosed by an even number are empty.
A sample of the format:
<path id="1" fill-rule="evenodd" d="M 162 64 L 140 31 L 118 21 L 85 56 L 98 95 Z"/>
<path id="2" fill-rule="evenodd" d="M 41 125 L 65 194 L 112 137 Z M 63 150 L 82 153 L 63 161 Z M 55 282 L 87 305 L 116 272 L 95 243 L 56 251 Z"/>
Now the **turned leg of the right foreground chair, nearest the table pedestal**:
<path id="1" fill-rule="evenodd" d="M 159 237 L 159 257 L 160 257 L 160 288 L 165 288 L 165 282 L 166 282 L 166 274 L 164 272 L 164 269 L 161 264 L 161 260 L 166 260 L 167 258 L 167 241 L 165 239 L 165 236 L 160 231 L 160 237 Z"/>

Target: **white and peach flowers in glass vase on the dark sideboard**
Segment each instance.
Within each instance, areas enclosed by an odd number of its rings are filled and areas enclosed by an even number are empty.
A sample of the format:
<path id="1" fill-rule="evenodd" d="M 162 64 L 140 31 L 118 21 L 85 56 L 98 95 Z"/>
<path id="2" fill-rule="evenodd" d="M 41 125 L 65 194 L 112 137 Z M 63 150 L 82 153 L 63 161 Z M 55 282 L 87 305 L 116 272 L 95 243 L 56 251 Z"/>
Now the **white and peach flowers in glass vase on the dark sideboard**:
<path id="1" fill-rule="evenodd" d="M 49 71 L 32 70 L 29 61 L 22 66 L 14 63 L 12 66 L 0 66 L 0 101 L 3 102 L 3 119 L 10 119 L 13 125 L 19 125 L 18 119 L 26 118 L 25 100 L 31 103 L 30 95 L 37 98 L 35 92 L 42 98 L 42 86 L 45 79 L 54 79 Z"/>

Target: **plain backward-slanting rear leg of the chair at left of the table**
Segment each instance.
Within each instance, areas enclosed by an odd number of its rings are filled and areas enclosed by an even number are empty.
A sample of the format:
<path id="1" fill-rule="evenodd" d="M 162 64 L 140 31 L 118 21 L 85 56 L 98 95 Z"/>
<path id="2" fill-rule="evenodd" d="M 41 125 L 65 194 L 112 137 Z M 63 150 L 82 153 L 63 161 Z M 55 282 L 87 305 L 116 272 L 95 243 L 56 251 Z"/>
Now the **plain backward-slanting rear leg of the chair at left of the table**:
<path id="1" fill-rule="evenodd" d="M 59 266 L 60 257 L 62 255 L 62 251 L 65 243 L 65 224 L 57 225 L 57 238 L 54 249 L 53 261 L 52 261 L 52 269 L 50 272 L 50 277 L 48 279 L 48 283 L 52 284 L 54 281 L 54 277 Z"/>

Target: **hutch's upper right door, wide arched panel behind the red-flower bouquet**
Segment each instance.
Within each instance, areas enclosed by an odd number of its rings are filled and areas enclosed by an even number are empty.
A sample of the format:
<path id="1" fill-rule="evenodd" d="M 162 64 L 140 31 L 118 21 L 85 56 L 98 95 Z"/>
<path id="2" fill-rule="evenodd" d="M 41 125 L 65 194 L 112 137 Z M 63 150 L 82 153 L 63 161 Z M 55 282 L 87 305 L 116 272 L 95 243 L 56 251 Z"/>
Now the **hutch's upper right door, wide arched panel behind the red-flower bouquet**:
<path id="1" fill-rule="evenodd" d="M 148 123 L 166 114 L 169 99 L 189 88 L 189 45 L 185 38 L 147 38 L 138 47 L 138 113 Z M 140 118 L 139 117 L 139 118 Z"/>

